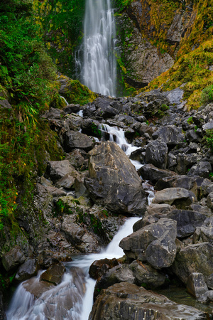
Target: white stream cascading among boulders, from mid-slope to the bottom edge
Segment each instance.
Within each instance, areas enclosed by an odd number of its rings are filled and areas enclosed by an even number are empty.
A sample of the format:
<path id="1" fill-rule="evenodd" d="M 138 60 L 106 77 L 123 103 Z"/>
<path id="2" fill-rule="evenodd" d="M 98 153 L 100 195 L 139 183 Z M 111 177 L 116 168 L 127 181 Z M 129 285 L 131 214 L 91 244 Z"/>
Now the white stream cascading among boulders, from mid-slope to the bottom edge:
<path id="1" fill-rule="evenodd" d="M 127 155 L 138 149 L 136 146 L 131 146 L 125 137 L 124 130 L 117 127 L 110 127 L 107 124 L 100 125 L 99 129 L 110 141 L 114 141 Z M 141 167 L 138 161 L 132 161 L 136 169 Z M 153 192 L 148 196 L 148 203 L 151 203 Z M 89 266 L 94 260 L 104 258 L 112 259 L 119 258 L 124 255 L 123 250 L 119 247 L 121 239 L 132 233 L 133 224 L 140 218 L 129 218 L 126 223 L 119 229 L 119 232 L 114 236 L 109 243 L 107 249 L 102 252 L 91 255 L 81 255 L 73 258 L 72 262 L 65 264 L 67 272 L 65 273 L 62 282 L 57 287 L 53 287 L 44 292 L 38 299 L 35 299 L 33 294 L 28 290 L 28 286 L 33 287 L 39 283 L 40 274 L 38 277 L 30 279 L 31 281 L 23 282 L 19 285 L 16 293 L 13 296 L 11 306 L 6 312 L 9 320 L 47 320 L 47 319 L 72 319 L 72 320 L 87 320 L 93 304 L 93 292 L 95 280 L 89 277 Z M 73 275 L 73 270 L 75 275 Z M 86 292 L 84 294 L 84 284 L 86 284 Z"/>

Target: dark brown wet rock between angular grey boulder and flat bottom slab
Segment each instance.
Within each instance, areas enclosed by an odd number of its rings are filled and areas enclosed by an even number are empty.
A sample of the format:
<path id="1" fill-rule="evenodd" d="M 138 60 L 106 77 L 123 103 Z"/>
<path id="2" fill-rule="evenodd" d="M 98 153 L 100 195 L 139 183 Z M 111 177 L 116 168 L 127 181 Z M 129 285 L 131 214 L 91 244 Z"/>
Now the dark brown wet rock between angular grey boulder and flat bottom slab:
<path id="1" fill-rule="evenodd" d="M 160 274 L 150 265 L 143 264 L 139 260 L 131 262 L 129 268 L 135 277 L 135 284 L 139 287 L 154 289 L 162 286 L 165 282 L 165 274 Z"/>

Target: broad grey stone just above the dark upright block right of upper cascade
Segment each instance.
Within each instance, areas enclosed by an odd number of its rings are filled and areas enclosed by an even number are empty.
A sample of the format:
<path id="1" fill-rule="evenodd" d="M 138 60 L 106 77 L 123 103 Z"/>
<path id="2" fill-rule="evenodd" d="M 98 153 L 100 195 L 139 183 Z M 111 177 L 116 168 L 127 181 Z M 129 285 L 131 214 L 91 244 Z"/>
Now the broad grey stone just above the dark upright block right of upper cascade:
<path id="1" fill-rule="evenodd" d="M 153 139 L 162 139 L 168 146 L 175 146 L 182 142 L 185 137 L 180 130 L 172 125 L 160 127 L 153 133 Z"/>

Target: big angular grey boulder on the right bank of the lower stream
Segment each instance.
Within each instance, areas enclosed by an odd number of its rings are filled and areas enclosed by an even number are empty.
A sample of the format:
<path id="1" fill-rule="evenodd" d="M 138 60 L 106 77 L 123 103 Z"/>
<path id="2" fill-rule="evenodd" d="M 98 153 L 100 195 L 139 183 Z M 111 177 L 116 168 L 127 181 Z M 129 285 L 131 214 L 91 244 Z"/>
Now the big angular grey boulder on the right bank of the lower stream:
<path id="1" fill-rule="evenodd" d="M 175 260 L 176 221 L 161 218 L 146 225 L 119 243 L 127 257 L 147 261 L 155 269 L 170 267 Z"/>

